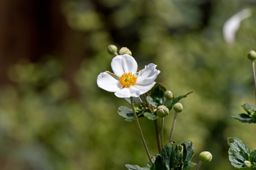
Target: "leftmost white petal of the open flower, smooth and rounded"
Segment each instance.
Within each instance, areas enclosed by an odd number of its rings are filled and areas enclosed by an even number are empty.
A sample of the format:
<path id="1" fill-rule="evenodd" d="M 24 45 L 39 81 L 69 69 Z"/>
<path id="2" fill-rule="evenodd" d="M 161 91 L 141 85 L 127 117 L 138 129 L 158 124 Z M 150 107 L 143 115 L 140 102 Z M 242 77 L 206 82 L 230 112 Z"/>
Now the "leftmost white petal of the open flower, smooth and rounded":
<path id="1" fill-rule="evenodd" d="M 108 71 L 100 73 L 97 78 L 97 84 L 100 88 L 103 88 L 108 92 L 117 92 L 122 86 L 118 80 L 108 73 Z"/>

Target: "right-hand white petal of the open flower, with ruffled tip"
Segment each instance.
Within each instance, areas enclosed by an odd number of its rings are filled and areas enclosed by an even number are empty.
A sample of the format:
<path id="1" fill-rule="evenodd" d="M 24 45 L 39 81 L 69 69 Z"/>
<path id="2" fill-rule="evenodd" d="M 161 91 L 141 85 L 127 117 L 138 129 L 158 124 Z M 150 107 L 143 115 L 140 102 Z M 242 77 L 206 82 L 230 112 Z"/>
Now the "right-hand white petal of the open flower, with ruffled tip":
<path id="1" fill-rule="evenodd" d="M 148 64 L 144 69 L 140 70 L 137 74 L 136 85 L 149 84 L 156 80 L 156 76 L 160 73 L 159 70 L 156 70 L 155 64 Z"/>

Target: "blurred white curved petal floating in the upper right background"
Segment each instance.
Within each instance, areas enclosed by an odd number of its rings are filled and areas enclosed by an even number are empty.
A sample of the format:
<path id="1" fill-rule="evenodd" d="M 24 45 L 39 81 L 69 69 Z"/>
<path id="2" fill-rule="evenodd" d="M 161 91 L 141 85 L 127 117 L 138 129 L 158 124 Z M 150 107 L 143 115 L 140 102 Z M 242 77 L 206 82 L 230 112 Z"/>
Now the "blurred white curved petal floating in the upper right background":
<path id="1" fill-rule="evenodd" d="M 252 12 L 249 8 L 246 8 L 238 13 L 236 13 L 234 16 L 229 18 L 223 26 L 223 37 L 226 43 L 228 44 L 234 44 L 236 39 L 236 32 L 238 31 L 240 27 L 240 23 L 242 20 L 248 18 L 252 15 Z"/>

